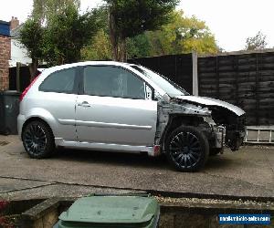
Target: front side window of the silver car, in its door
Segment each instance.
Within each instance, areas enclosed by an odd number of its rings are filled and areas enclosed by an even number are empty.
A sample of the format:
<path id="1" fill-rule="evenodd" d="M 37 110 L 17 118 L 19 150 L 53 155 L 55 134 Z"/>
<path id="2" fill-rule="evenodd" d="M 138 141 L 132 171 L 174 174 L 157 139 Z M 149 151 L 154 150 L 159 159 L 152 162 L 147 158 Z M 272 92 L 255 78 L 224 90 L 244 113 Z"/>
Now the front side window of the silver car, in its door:
<path id="1" fill-rule="evenodd" d="M 121 67 L 90 66 L 84 68 L 84 94 L 144 99 L 144 82 Z"/>

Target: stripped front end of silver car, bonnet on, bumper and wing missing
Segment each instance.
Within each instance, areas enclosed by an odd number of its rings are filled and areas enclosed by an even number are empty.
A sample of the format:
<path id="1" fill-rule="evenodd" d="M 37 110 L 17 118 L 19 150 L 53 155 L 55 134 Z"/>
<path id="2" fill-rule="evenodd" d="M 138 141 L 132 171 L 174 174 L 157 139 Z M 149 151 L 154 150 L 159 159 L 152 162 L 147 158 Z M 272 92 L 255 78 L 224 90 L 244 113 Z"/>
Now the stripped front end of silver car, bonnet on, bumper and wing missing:
<path id="1" fill-rule="evenodd" d="M 221 100 L 195 96 L 164 98 L 158 102 L 158 112 L 156 144 L 164 143 L 166 135 L 178 125 L 203 131 L 210 150 L 222 150 L 225 145 L 238 150 L 245 136 L 245 112 Z"/>

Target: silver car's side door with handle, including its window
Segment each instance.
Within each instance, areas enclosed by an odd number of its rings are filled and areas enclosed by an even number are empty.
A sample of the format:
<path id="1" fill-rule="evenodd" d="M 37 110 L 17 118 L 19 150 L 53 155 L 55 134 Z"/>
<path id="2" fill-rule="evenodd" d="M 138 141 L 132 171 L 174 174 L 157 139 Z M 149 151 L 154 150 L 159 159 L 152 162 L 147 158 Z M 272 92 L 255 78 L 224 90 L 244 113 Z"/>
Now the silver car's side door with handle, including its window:
<path id="1" fill-rule="evenodd" d="M 145 83 L 128 69 L 87 66 L 76 107 L 79 141 L 153 145 L 157 102 L 145 96 Z"/>

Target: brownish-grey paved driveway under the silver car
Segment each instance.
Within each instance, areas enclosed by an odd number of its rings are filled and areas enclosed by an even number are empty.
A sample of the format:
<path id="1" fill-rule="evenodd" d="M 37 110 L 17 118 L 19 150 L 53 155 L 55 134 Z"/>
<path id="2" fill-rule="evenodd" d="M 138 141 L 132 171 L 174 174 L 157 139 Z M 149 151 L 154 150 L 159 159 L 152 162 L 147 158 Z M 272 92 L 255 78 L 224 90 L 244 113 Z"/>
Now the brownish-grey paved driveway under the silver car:
<path id="1" fill-rule="evenodd" d="M 32 160 L 17 136 L 0 136 L 0 161 L 4 199 L 142 190 L 196 197 L 274 197 L 274 147 L 226 150 L 210 157 L 204 170 L 186 173 L 174 171 L 164 158 L 125 153 L 59 150 L 51 159 Z"/>

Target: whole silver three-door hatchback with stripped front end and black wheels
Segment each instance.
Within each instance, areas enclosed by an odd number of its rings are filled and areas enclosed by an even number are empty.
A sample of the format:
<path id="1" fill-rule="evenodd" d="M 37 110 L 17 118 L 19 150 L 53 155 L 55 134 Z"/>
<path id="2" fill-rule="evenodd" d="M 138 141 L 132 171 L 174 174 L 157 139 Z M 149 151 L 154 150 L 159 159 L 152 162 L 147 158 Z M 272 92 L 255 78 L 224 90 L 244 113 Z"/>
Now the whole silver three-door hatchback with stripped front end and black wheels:
<path id="1" fill-rule="evenodd" d="M 238 150 L 245 132 L 242 109 L 119 62 L 47 68 L 20 100 L 18 131 L 35 159 L 57 147 L 163 153 L 175 169 L 197 171 L 225 145 Z"/>

